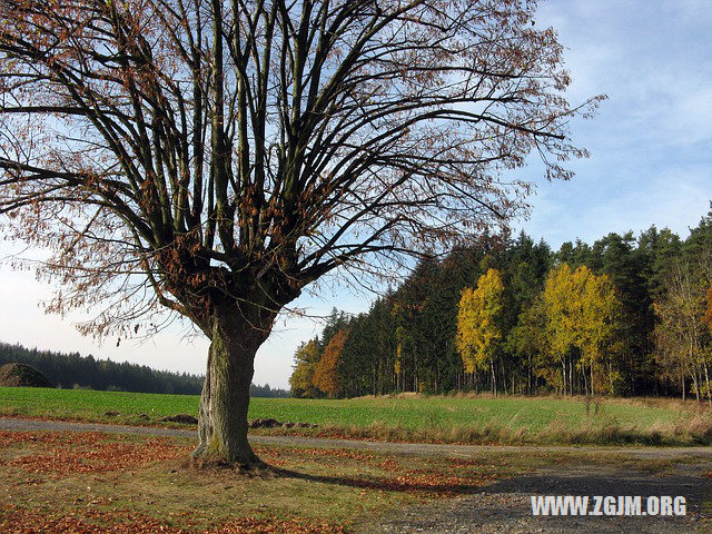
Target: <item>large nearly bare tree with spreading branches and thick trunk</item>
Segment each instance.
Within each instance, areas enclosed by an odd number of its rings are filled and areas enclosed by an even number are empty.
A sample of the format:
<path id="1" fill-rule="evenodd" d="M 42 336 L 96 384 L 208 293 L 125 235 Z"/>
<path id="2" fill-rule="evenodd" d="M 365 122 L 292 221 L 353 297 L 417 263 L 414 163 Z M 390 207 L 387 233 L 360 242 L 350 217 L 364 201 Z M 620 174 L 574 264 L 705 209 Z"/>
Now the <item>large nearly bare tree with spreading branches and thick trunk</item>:
<path id="1" fill-rule="evenodd" d="M 0 211 L 49 306 L 211 340 L 195 455 L 247 442 L 257 348 L 305 286 L 463 244 L 507 172 L 585 156 L 562 47 L 518 0 L 0 0 Z M 377 261 L 377 263 L 376 263 Z M 148 314 L 148 315 L 147 315 Z"/>

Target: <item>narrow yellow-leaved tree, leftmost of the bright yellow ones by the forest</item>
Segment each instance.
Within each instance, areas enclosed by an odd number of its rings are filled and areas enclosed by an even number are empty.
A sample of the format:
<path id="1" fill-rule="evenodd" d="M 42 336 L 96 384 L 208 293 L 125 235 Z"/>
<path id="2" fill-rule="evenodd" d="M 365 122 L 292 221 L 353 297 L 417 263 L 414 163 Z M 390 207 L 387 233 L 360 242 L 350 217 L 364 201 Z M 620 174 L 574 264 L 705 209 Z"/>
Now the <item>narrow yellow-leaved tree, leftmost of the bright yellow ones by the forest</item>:
<path id="1" fill-rule="evenodd" d="M 476 288 L 463 289 L 457 310 L 457 352 L 463 358 L 465 373 L 475 369 L 492 372 L 492 392 L 497 394 L 494 368 L 495 354 L 502 328 L 500 318 L 504 305 L 504 284 L 496 269 L 490 269 L 477 280 Z"/>

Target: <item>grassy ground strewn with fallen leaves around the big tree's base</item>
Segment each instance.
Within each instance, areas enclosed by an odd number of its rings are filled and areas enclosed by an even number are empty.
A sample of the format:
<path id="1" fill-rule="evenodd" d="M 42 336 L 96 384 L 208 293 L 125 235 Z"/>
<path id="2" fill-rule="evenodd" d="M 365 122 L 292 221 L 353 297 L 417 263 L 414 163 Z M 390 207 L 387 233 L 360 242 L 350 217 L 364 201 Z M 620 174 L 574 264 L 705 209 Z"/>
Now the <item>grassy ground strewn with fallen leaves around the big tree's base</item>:
<path id="1" fill-rule="evenodd" d="M 257 448 L 273 469 L 201 472 L 177 459 L 185 448 L 169 437 L 0 432 L 0 532 L 343 534 L 354 518 L 476 492 L 508 473 L 482 459 L 284 445 Z"/>

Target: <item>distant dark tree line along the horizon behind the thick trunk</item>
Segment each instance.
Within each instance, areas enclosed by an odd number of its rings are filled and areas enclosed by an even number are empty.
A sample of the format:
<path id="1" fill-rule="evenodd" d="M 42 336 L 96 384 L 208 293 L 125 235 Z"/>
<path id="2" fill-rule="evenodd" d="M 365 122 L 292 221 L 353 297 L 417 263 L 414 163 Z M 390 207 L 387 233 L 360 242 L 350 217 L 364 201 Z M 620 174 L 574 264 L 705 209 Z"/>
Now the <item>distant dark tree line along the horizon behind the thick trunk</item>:
<path id="1" fill-rule="evenodd" d="M 113 392 L 199 395 L 204 376 L 152 369 L 146 365 L 96 359 L 92 355 L 38 350 L 0 343 L 0 365 L 27 364 L 42 373 L 55 386 Z M 288 397 L 285 389 L 251 384 L 253 397 Z"/>

